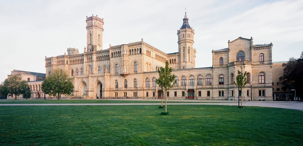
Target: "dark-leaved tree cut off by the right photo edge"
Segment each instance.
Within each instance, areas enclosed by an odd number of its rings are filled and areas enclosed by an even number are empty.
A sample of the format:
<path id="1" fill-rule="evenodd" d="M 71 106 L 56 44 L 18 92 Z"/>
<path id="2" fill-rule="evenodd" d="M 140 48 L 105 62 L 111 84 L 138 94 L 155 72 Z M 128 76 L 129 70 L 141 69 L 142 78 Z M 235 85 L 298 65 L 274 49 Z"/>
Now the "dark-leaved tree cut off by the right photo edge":
<path id="1" fill-rule="evenodd" d="M 283 75 L 279 77 L 279 80 L 282 85 L 281 89 L 286 91 L 287 89 L 297 89 L 296 96 L 303 97 L 303 52 L 301 53 L 300 58 L 295 59 L 291 57 L 287 63 L 283 63 Z"/>

